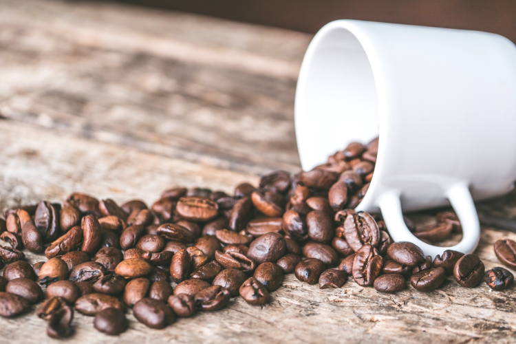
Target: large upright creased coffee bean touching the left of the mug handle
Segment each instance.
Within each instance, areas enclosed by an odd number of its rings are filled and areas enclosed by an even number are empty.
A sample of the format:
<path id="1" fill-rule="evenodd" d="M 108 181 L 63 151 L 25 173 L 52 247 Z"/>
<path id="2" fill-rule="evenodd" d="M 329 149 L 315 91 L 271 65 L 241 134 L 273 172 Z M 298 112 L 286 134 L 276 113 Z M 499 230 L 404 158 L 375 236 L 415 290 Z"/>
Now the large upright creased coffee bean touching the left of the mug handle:
<path id="1" fill-rule="evenodd" d="M 374 218 L 359 211 L 347 216 L 344 222 L 344 235 L 347 244 L 356 252 L 364 245 L 377 246 L 380 242 L 380 230 Z"/>

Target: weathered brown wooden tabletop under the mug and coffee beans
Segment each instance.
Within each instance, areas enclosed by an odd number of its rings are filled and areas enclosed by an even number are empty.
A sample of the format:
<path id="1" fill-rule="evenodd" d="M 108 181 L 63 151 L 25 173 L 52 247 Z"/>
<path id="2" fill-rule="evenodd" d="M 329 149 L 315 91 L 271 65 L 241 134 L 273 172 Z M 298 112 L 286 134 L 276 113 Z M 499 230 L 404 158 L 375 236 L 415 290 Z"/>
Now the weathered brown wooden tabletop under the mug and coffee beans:
<path id="1" fill-rule="evenodd" d="M 173 185 L 232 192 L 267 171 L 299 171 L 293 102 L 310 39 L 113 4 L 0 1 L 0 209 L 63 202 L 72 191 L 151 203 Z M 493 244 L 516 239 L 516 194 L 477 208 L 489 225 L 477 254 L 500 266 Z M 428 293 L 380 294 L 351 278 L 319 290 L 288 275 L 263 307 L 235 298 L 165 330 L 129 312 L 120 337 L 76 314 L 63 342 L 509 343 L 515 290 L 460 288 L 453 278 Z M 0 319 L 0 342 L 56 343 L 45 325 L 34 312 Z"/>

